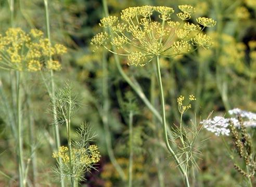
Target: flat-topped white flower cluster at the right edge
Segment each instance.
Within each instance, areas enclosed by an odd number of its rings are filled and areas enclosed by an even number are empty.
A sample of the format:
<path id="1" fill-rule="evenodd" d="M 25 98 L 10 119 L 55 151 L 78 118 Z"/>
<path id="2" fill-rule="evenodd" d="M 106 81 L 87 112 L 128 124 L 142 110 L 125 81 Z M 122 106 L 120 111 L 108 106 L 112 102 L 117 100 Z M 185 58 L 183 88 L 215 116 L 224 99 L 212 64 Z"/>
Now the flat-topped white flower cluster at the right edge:
<path id="1" fill-rule="evenodd" d="M 230 115 L 240 115 L 245 119 L 245 127 L 256 127 L 256 114 L 252 112 L 243 111 L 240 109 L 229 110 Z M 232 121 L 234 126 L 240 128 L 240 124 L 237 118 L 224 118 L 222 116 L 215 116 L 213 119 L 206 119 L 201 122 L 204 128 L 213 132 L 216 136 L 225 135 L 229 136 L 230 130 L 228 128 L 229 122 Z"/>

